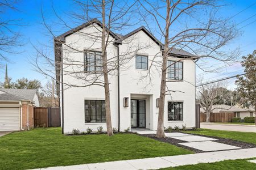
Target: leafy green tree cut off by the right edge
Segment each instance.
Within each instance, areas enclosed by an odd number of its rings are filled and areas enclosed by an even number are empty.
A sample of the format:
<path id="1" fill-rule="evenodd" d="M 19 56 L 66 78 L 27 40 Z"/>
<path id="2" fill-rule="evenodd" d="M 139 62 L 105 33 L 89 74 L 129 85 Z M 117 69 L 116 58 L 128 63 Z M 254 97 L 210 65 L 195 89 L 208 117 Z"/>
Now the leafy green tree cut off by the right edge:
<path id="1" fill-rule="evenodd" d="M 241 95 L 241 104 L 245 108 L 254 107 L 256 111 L 256 50 L 253 54 L 242 57 L 245 76 L 237 76 L 237 91 Z M 256 126 L 256 116 L 255 116 Z"/>

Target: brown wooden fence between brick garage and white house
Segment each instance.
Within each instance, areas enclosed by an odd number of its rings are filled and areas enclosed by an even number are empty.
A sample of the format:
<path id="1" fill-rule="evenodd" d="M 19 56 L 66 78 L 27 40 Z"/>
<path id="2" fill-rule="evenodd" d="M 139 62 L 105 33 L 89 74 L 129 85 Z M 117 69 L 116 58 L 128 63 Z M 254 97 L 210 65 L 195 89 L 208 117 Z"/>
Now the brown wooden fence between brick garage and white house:
<path id="1" fill-rule="evenodd" d="M 34 126 L 59 127 L 60 126 L 60 108 L 34 108 Z"/>

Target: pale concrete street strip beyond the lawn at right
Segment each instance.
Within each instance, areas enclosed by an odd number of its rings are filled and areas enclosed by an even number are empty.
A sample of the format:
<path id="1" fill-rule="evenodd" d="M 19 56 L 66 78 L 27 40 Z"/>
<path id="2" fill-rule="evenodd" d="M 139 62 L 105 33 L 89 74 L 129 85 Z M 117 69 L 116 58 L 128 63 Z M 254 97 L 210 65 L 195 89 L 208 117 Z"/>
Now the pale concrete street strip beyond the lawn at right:
<path id="1" fill-rule="evenodd" d="M 255 132 L 256 127 L 254 125 L 232 125 L 232 124 L 215 124 L 215 123 L 201 123 L 203 129 L 213 130 L 229 130 L 229 131 L 242 131 L 242 132 Z"/>

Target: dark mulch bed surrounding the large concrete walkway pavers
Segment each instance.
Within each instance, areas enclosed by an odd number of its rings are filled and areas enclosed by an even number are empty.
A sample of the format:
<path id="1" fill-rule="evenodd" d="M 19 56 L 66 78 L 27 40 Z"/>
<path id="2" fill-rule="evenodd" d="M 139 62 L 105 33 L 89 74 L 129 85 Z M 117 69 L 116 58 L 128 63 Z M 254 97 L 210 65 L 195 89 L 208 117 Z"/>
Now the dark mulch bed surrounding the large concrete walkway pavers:
<path id="1" fill-rule="evenodd" d="M 175 132 L 183 133 L 183 132 L 180 132 L 180 131 L 175 131 Z M 184 133 L 184 134 L 189 134 L 189 133 Z M 197 150 L 195 148 L 191 148 L 191 147 L 188 147 L 188 146 L 179 145 L 179 143 L 185 143 L 186 142 L 186 141 L 181 141 L 179 139 L 174 139 L 174 138 L 170 138 L 170 137 L 156 138 L 155 134 L 138 134 L 138 135 L 142 135 L 144 137 L 155 139 L 157 141 L 170 143 L 171 145 L 179 146 L 179 147 L 185 148 L 187 150 L 191 150 L 191 151 L 193 151 L 195 153 L 211 152 L 211 151 L 201 151 L 201 150 Z M 194 135 L 194 134 L 190 134 L 190 135 Z M 208 138 L 218 139 L 218 140 L 213 141 L 213 142 L 224 143 L 226 145 L 232 145 L 232 146 L 237 146 L 237 147 L 241 147 L 241 148 L 253 148 L 253 147 L 256 147 L 256 145 L 254 145 L 252 143 L 236 141 L 236 140 L 233 140 L 233 139 L 225 139 L 225 138 L 212 137 L 212 136 L 200 135 L 200 134 L 195 134 L 195 135 L 198 135 L 198 136 L 201 136 L 201 137 L 208 137 Z"/>

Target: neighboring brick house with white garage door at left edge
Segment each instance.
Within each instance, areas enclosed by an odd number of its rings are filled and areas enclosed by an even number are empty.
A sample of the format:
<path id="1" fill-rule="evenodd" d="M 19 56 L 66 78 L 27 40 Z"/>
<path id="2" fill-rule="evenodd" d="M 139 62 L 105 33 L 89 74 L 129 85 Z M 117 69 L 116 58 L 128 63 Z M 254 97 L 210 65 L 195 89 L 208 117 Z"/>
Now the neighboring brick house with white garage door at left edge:
<path id="1" fill-rule="evenodd" d="M 34 128 L 34 107 L 39 107 L 36 90 L 0 88 L 0 131 Z"/>

